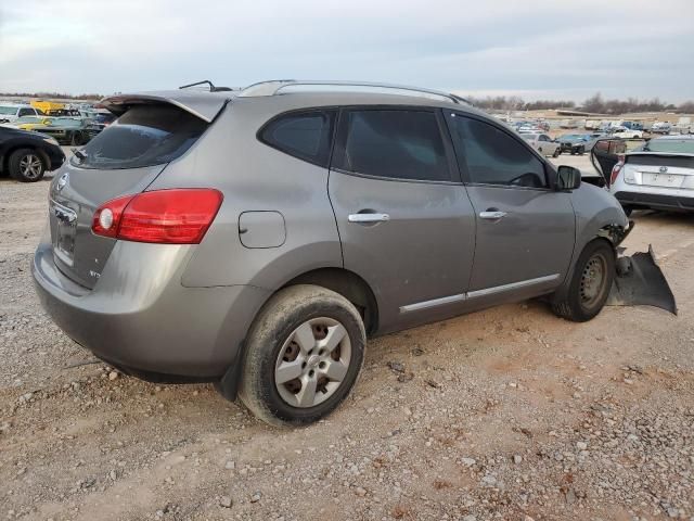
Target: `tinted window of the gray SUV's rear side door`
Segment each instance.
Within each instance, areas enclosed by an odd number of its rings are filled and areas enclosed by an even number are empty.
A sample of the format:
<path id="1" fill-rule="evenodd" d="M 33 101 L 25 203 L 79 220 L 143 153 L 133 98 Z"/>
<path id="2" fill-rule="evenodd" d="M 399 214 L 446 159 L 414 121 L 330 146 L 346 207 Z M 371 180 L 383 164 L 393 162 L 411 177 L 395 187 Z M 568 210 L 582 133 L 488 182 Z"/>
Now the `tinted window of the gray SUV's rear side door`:
<path id="1" fill-rule="evenodd" d="M 344 119 L 337 168 L 397 179 L 450 180 L 433 112 L 346 111 Z"/>

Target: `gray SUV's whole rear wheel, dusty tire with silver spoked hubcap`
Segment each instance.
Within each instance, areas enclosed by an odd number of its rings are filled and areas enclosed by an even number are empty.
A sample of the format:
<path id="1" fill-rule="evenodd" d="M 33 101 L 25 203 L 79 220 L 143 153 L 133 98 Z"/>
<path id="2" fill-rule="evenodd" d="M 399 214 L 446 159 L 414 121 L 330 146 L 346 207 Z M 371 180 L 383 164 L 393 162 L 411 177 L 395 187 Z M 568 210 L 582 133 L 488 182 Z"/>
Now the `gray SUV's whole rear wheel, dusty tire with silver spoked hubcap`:
<path id="1" fill-rule="evenodd" d="M 239 397 L 270 424 L 318 421 L 349 395 L 365 343 L 359 312 L 340 294 L 308 284 L 280 290 L 248 333 Z"/>

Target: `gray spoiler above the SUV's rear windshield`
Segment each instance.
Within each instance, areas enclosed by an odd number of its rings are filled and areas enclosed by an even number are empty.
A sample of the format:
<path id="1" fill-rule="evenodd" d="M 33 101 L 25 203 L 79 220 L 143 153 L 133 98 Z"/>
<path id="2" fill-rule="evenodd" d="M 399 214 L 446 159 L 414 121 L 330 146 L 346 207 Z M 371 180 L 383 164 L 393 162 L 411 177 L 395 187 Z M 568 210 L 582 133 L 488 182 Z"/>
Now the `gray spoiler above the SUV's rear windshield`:
<path id="1" fill-rule="evenodd" d="M 116 94 L 104 98 L 100 103 L 116 116 L 125 114 L 130 107 L 136 105 L 168 103 L 207 123 L 211 123 L 232 98 L 234 98 L 234 94 L 231 92 L 170 90 Z"/>

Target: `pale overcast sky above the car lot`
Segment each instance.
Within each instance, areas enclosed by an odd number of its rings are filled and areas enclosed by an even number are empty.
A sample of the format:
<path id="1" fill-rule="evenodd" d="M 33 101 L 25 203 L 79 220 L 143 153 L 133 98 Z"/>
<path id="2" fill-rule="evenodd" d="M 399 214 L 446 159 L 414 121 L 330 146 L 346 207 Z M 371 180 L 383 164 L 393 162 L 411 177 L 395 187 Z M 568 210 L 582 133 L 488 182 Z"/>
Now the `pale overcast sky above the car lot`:
<path id="1" fill-rule="evenodd" d="M 694 0 L 0 0 L 0 91 L 360 79 L 694 98 Z"/>

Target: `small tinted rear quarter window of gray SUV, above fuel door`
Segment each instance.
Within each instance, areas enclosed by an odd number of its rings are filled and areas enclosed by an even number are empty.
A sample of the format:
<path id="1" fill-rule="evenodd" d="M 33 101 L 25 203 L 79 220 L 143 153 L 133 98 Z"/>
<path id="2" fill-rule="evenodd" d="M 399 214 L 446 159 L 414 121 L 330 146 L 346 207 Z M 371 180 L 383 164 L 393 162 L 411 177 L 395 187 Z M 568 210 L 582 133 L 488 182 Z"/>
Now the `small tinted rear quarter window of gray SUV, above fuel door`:
<path id="1" fill-rule="evenodd" d="M 293 112 L 272 119 L 260 139 L 290 155 L 327 166 L 335 111 Z"/>

